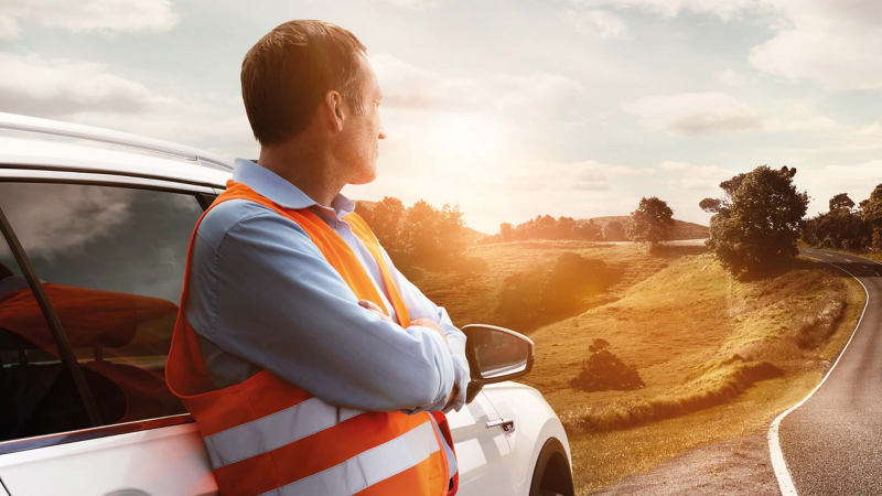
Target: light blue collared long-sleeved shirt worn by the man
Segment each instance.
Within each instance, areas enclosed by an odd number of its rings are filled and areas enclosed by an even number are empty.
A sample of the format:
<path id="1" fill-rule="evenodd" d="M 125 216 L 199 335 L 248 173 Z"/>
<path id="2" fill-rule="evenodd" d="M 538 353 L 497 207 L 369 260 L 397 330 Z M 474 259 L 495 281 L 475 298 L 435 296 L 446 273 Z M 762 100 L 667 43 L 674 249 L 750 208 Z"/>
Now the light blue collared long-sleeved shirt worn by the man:
<path id="1" fill-rule="evenodd" d="M 233 179 L 287 208 L 315 212 L 358 257 L 395 320 L 376 261 L 344 219 L 355 209 L 352 201 L 337 195 L 331 207 L 319 205 L 243 159 Z M 465 335 L 383 255 L 411 319 L 438 322 L 449 349 L 429 328 L 404 328 L 359 306 L 298 224 L 243 200 L 212 208 L 193 247 L 186 319 L 214 386 L 267 369 L 331 405 L 415 413 L 442 410 L 456 384 L 450 408 L 462 408 Z"/>

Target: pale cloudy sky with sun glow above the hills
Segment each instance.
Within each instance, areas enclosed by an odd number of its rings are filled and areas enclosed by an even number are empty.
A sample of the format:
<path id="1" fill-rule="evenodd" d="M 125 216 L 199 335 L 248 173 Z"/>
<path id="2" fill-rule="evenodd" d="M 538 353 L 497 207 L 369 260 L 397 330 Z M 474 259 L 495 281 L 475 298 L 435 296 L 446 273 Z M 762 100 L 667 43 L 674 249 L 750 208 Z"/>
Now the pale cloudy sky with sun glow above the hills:
<path id="1" fill-rule="evenodd" d="M 256 158 L 239 71 L 276 25 L 367 46 L 388 138 L 343 193 L 536 215 L 675 217 L 719 183 L 795 166 L 809 214 L 882 183 L 878 0 L 0 0 L 0 111 Z"/>

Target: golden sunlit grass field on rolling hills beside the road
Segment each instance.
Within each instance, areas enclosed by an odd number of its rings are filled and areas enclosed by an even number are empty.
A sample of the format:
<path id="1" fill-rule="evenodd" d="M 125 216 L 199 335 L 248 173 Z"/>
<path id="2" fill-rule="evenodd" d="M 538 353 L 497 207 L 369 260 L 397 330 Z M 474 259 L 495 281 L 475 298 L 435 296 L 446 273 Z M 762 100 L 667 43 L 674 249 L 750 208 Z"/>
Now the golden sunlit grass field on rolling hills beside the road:
<path id="1" fill-rule="evenodd" d="M 863 308 L 860 285 L 824 263 L 798 259 L 764 280 L 730 281 L 703 247 L 650 255 L 627 245 L 497 244 L 470 249 L 458 267 L 404 271 L 456 325 L 493 324 L 505 277 L 564 251 L 624 271 L 606 293 L 530 334 L 536 364 L 523 381 L 564 422 L 579 494 L 767 427 L 817 385 Z M 570 388 L 594 338 L 635 365 L 646 387 Z"/>

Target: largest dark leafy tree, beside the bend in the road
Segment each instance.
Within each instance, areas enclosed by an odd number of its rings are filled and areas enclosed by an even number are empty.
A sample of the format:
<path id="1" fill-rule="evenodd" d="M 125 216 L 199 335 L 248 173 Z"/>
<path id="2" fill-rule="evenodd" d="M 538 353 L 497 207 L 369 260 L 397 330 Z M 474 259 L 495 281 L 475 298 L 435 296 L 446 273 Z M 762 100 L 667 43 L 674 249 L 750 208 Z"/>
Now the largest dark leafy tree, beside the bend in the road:
<path id="1" fill-rule="evenodd" d="M 796 191 L 794 175 L 796 169 L 761 165 L 720 183 L 727 206 L 711 218 L 706 244 L 733 276 L 762 272 L 798 254 L 808 194 Z"/>

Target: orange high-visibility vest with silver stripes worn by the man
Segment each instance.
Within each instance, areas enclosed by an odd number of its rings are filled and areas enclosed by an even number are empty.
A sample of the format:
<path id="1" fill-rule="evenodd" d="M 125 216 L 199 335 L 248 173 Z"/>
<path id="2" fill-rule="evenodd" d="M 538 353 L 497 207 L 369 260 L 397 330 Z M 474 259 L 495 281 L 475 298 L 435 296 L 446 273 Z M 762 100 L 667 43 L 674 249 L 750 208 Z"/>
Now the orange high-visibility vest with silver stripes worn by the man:
<path id="1" fill-rule="evenodd" d="M 284 208 L 233 181 L 212 207 L 230 200 L 265 205 L 297 223 L 358 299 L 384 308 L 358 258 L 312 211 Z M 357 214 L 345 219 L 376 259 L 398 323 L 407 327 L 410 325 L 407 306 L 389 276 L 376 237 Z M 169 388 L 198 424 L 220 495 L 455 493 L 459 477 L 454 476 L 454 487 L 449 493 L 450 467 L 441 436 L 451 449 L 453 443 L 441 412 L 408 416 L 334 407 L 269 370 L 223 389 L 212 386 L 196 334 L 185 316 L 197 228 L 198 223 L 190 241 L 181 311 L 165 374 Z"/>

